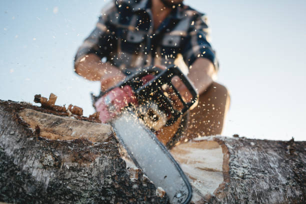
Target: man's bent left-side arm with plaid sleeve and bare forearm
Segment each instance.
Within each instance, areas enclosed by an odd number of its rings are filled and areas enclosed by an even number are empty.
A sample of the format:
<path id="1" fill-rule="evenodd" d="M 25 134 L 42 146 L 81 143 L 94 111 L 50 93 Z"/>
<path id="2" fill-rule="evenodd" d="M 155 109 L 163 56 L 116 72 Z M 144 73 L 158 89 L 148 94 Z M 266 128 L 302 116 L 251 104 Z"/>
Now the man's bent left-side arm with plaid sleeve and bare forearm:
<path id="1" fill-rule="evenodd" d="M 125 75 L 109 61 L 102 63 L 101 58 L 111 58 L 110 53 L 116 46 L 115 27 L 109 15 L 117 12 L 113 1 L 102 9 L 95 28 L 79 46 L 74 57 L 74 71 L 88 80 L 99 80 L 104 91 Z"/>

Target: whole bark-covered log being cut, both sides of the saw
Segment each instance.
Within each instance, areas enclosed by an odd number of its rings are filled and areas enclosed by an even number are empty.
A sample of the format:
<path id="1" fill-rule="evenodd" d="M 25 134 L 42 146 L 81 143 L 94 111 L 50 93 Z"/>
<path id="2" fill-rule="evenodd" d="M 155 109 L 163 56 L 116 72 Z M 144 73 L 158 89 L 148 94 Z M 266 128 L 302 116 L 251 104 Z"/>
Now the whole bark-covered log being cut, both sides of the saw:
<path id="1" fill-rule="evenodd" d="M 305 203 L 305 149 L 293 139 L 208 136 L 171 153 L 192 185 L 192 203 Z M 167 203 L 124 159 L 111 126 L 93 117 L 0 100 L 0 201 Z"/>

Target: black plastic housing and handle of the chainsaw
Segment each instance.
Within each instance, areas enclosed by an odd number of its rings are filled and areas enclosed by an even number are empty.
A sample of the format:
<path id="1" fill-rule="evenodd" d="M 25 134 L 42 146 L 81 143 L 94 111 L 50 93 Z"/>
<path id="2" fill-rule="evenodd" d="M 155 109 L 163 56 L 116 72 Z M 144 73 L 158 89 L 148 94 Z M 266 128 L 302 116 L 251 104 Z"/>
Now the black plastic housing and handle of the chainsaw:
<path id="1" fill-rule="evenodd" d="M 142 77 L 146 75 L 153 75 L 154 77 L 146 83 L 143 83 Z M 172 84 L 172 78 L 178 76 L 181 82 L 187 87 L 188 91 L 191 93 L 192 99 L 189 102 L 185 102 Z M 128 75 L 122 82 L 118 83 L 116 86 L 108 89 L 105 92 L 100 92 L 98 96 L 92 95 L 93 103 L 106 92 L 110 91 L 115 87 L 123 87 L 124 85 L 130 85 L 133 89 L 137 101 L 139 104 L 144 104 L 147 102 L 153 102 L 157 104 L 158 108 L 165 112 L 168 119 L 167 125 L 173 124 L 182 114 L 184 114 L 196 101 L 198 95 L 190 83 L 188 78 L 180 71 L 177 66 L 169 66 L 164 70 L 161 70 L 155 66 L 145 67 L 144 69 L 137 71 L 133 74 Z M 168 97 L 167 92 L 162 88 L 164 86 L 170 87 L 172 94 L 176 95 L 176 98 L 180 101 L 182 107 L 177 109 L 175 107 L 175 101 Z"/>

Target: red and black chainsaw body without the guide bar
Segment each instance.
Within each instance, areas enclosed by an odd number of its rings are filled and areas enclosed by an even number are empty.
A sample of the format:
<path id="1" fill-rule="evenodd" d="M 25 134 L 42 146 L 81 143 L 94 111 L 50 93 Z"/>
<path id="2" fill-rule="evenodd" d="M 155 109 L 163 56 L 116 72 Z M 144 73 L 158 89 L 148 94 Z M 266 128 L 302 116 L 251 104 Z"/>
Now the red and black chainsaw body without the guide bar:
<path id="1" fill-rule="evenodd" d="M 174 86 L 174 77 L 187 87 L 192 97 L 190 101 L 184 100 Z M 110 121 L 122 109 L 130 107 L 147 127 L 156 132 L 175 123 L 197 104 L 197 98 L 187 77 L 176 66 L 170 66 L 165 70 L 147 67 L 129 75 L 115 87 L 94 97 L 93 101 L 102 122 Z"/>

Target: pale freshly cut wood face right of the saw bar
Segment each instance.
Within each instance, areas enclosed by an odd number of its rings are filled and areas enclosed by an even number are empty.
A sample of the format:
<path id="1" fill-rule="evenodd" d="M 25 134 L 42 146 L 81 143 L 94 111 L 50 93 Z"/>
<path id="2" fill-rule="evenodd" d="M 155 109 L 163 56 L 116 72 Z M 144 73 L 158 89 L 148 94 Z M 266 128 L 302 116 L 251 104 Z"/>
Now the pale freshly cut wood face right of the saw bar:
<path id="1" fill-rule="evenodd" d="M 224 177 L 228 177 L 226 146 L 215 140 L 193 140 L 173 147 L 171 153 L 189 178 L 193 203 L 207 201 L 222 191 L 227 181 Z"/>

